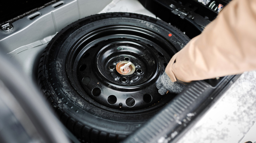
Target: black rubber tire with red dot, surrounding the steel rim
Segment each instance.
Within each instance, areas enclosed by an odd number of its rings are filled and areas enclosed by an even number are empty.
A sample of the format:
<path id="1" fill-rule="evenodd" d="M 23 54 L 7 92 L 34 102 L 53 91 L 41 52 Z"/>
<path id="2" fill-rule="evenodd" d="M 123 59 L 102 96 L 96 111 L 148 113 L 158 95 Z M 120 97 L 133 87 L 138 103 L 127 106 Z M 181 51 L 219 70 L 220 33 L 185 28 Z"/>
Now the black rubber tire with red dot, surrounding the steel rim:
<path id="1" fill-rule="evenodd" d="M 143 22 L 143 23 L 139 23 Z M 183 48 L 189 38 L 177 28 L 161 20 L 135 13 L 103 13 L 80 19 L 57 33 L 45 48 L 39 63 L 38 84 L 47 101 L 53 107 L 61 122 L 81 142 L 120 142 L 154 116 L 167 102 L 155 103 L 150 109 L 124 110 L 102 107 L 94 100 L 82 98 L 67 77 L 66 58 L 69 46 L 63 46 L 69 39 L 69 45 L 78 37 L 85 35 L 92 25 L 124 24 L 141 27 L 158 33 L 174 48 L 166 49 L 171 55 Z M 150 27 L 147 24 L 152 24 Z M 77 32 L 80 29 L 80 32 Z M 74 34 L 75 33 L 75 34 Z M 169 34 L 171 33 L 171 35 Z M 170 59 L 168 59 L 170 60 Z M 164 67 L 163 67 L 164 68 Z M 157 77 L 160 77 L 158 75 Z M 169 96 L 169 97 L 167 97 Z M 171 94 L 163 96 L 171 100 Z M 154 107 L 155 106 L 155 107 Z M 120 112 L 119 112 L 120 111 Z"/>

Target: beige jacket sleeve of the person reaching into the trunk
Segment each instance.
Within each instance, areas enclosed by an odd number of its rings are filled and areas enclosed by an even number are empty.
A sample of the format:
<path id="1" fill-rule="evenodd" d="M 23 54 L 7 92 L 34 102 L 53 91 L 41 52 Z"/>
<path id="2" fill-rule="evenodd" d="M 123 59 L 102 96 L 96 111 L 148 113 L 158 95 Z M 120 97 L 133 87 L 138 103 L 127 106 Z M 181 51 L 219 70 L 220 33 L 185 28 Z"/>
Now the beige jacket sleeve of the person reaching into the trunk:
<path id="1" fill-rule="evenodd" d="M 191 82 L 256 69 L 256 0 L 233 0 L 175 54 L 165 72 Z"/>

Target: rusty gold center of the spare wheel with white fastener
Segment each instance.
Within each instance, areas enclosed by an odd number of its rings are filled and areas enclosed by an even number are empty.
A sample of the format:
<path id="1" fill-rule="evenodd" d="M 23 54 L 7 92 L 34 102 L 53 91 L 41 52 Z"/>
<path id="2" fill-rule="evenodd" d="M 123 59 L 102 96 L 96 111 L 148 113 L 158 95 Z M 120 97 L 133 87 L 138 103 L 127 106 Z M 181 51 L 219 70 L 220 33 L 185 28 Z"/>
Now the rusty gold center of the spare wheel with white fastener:
<path id="1" fill-rule="evenodd" d="M 121 75 L 131 75 L 135 71 L 135 66 L 132 62 L 129 61 L 120 61 L 116 65 L 116 70 Z"/>

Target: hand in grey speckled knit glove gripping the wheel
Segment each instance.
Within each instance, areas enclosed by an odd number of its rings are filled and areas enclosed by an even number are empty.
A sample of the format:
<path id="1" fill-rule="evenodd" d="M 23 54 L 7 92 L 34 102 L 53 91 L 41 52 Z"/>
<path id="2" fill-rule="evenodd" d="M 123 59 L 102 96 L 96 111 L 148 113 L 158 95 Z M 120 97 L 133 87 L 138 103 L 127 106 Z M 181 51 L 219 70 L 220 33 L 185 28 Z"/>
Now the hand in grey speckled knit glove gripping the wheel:
<path id="1" fill-rule="evenodd" d="M 157 88 L 159 89 L 158 92 L 161 95 L 165 95 L 167 91 L 179 94 L 186 87 L 186 85 L 179 82 L 172 82 L 166 72 L 161 75 L 160 80 L 157 83 Z"/>

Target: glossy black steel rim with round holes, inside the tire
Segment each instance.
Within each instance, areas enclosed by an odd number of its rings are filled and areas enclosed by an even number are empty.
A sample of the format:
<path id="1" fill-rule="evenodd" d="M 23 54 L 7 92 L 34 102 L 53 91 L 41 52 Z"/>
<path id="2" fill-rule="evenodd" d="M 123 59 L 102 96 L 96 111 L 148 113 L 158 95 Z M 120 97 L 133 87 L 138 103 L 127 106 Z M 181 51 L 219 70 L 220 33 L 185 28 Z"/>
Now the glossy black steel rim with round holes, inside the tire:
<path id="1" fill-rule="evenodd" d="M 143 28 L 101 27 L 72 46 L 67 57 L 66 66 L 72 67 L 67 68 L 68 77 L 85 99 L 89 96 L 115 109 L 144 109 L 162 98 L 156 83 L 173 55 L 172 48 L 158 33 Z M 134 73 L 118 73 L 116 66 L 121 61 L 131 61 Z"/>

